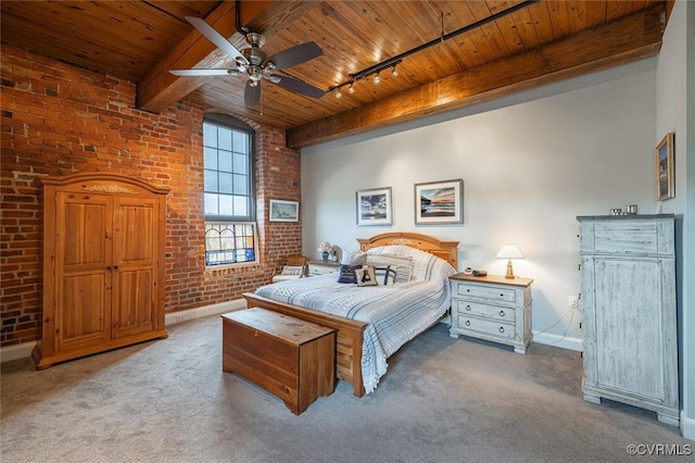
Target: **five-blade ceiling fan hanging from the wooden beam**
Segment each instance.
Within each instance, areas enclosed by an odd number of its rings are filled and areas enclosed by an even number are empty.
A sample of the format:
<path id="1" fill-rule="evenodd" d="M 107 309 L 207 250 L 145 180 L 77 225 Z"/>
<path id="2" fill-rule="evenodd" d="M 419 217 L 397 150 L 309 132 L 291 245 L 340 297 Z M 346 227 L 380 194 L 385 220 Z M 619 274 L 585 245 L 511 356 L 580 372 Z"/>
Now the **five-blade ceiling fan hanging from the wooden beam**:
<path id="1" fill-rule="evenodd" d="M 195 68 L 195 70 L 172 70 L 172 74 L 177 76 L 219 76 L 245 74 L 249 79 L 244 90 L 243 101 L 247 108 L 253 108 L 261 100 L 261 80 L 267 79 L 273 84 L 295 93 L 312 98 L 321 98 L 324 90 L 308 85 L 300 79 L 286 74 L 276 74 L 296 64 L 313 60 L 323 54 L 321 49 L 313 41 L 301 43 L 287 50 L 280 51 L 270 58 L 261 49 L 265 43 L 265 38 L 257 33 L 247 33 L 247 43 L 249 48 L 239 51 L 222 34 L 215 30 L 210 24 L 200 17 L 186 16 L 186 21 L 191 23 L 202 35 L 215 43 L 217 48 L 231 57 L 236 68 Z"/>

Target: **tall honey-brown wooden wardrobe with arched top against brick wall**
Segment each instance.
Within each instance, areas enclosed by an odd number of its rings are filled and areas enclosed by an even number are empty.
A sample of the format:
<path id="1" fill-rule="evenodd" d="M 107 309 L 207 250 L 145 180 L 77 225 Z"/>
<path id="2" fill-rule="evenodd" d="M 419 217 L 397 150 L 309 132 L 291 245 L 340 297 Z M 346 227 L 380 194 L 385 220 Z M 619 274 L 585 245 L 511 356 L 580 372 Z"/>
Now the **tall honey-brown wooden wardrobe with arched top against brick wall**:
<path id="1" fill-rule="evenodd" d="M 168 189 L 115 174 L 42 178 L 43 314 L 37 370 L 164 328 Z"/>

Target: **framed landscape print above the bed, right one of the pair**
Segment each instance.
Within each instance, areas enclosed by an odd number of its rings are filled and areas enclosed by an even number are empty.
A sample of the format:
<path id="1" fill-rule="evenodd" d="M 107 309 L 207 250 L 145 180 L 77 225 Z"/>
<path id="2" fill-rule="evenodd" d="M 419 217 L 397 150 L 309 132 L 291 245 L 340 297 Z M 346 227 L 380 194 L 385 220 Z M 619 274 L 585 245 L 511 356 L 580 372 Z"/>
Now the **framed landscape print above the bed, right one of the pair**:
<path id="1" fill-rule="evenodd" d="M 464 180 L 415 184 L 415 224 L 463 224 Z"/>

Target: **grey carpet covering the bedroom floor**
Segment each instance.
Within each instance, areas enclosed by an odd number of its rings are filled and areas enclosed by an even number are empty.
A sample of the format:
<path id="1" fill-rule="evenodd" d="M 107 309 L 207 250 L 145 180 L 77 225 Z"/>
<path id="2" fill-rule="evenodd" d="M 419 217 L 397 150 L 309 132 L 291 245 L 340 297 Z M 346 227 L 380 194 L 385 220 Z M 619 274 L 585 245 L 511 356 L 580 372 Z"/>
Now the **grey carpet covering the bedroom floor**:
<path id="1" fill-rule="evenodd" d="M 295 416 L 223 373 L 220 345 L 211 316 L 42 372 L 5 362 L 2 462 L 617 462 L 631 443 L 693 443 L 650 412 L 584 402 L 579 354 L 553 347 L 519 355 L 439 324 L 374 393 L 339 381 Z"/>

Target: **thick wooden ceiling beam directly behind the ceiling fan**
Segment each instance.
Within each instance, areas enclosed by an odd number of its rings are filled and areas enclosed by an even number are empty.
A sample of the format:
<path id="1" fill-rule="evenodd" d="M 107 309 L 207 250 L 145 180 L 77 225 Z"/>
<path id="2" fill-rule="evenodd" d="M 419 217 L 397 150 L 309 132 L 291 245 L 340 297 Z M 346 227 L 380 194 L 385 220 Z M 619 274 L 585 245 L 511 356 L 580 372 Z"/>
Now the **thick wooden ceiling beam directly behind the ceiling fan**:
<path id="1" fill-rule="evenodd" d="M 224 1 L 205 21 L 219 34 L 229 37 L 238 49 L 245 41 L 236 28 L 236 2 Z M 251 1 L 241 5 L 241 24 L 250 30 L 261 32 L 266 40 L 292 24 L 298 17 L 315 7 L 315 2 Z M 228 67 L 233 62 L 217 50 L 214 43 L 193 29 L 176 45 L 138 83 L 137 105 L 139 109 L 160 113 L 203 85 L 210 77 L 177 77 L 169 70 L 192 67 Z"/>

